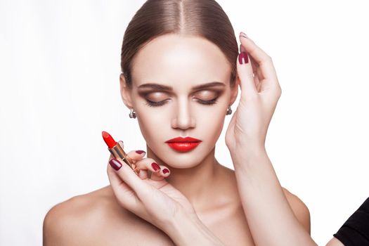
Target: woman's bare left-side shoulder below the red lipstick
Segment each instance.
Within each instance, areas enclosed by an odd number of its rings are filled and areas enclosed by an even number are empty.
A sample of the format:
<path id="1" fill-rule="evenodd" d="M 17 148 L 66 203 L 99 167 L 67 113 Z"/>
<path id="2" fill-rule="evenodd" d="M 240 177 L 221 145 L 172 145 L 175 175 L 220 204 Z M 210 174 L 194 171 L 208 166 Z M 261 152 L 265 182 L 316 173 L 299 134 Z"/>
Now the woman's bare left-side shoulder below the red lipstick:
<path id="1" fill-rule="evenodd" d="M 93 233 L 103 233 L 103 221 L 109 216 L 107 194 L 106 188 L 101 188 L 51 207 L 44 218 L 44 245 L 92 245 Z"/>

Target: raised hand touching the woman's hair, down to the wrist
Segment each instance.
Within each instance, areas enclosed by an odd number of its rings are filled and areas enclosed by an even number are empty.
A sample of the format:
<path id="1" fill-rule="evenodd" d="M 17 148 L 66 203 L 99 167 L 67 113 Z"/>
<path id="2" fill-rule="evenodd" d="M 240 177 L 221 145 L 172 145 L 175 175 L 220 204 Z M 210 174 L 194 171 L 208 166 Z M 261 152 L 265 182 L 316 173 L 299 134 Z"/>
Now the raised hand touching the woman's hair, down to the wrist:
<path id="1" fill-rule="evenodd" d="M 244 35 L 240 34 L 237 63 L 241 98 L 226 131 L 226 145 L 232 151 L 264 150 L 266 131 L 282 91 L 271 57 Z M 247 52 L 244 59 L 243 51 Z"/>

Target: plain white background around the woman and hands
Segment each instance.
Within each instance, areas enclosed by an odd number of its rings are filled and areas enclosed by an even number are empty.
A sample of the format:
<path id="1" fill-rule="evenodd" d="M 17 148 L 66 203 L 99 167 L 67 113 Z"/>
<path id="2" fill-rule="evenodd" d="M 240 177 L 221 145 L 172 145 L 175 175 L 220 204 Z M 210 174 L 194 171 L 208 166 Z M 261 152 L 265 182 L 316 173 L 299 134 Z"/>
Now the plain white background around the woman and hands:
<path id="1" fill-rule="evenodd" d="M 143 2 L 0 0 L 0 245 L 41 245 L 48 209 L 109 184 L 101 131 L 145 150 L 119 95 L 124 30 Z M 236 37 L 273 58 L 283 94 L 266 149 L 323 245 L 368 198 L 366 2 L 218 2 Z M 216 157 L 233 168 L 230 119 Z"/>

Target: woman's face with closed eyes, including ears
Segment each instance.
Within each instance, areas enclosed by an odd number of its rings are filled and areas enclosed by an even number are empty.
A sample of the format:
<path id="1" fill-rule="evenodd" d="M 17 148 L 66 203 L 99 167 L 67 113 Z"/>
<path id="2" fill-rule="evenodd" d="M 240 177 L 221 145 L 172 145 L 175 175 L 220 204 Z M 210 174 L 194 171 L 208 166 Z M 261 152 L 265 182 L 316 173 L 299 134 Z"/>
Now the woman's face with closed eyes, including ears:
<path id="1" fill-rule="evenodd" d="M 237 97 L 238 86 L 231 91 L 229 84 L 231 65 L 226 56 L 207 39 L 166 34 L 138 51 L 131 76 L 131 91 L 121 76 L 122 98 L 127 107 L 134 108 L 148 148 L 170 167 L 199 164 L 213 150 L 228 105 Z M 212 82 L 216 83 L 194 89 Z M 186 136 L 202 142 L 187 152 L 165 143 Z"/>

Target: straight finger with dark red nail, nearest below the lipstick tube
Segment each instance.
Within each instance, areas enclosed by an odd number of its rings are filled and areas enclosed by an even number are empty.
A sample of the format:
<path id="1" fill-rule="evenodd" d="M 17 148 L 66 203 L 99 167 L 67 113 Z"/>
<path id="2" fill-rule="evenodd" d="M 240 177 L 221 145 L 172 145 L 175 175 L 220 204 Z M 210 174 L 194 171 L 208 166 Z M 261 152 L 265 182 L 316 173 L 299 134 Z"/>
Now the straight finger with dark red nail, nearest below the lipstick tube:
<path id="1" fill-rule="evenodd" d="M 114 169 L 119 178 L 134 190 L 140 200 L 144 199 L 148 195 L 148 192 L 151 191 L 152 187 L 141 180 L 140 177 L 134 173 L 134 170 L 123 162 L 121 158 L 113 158 L 110 160 L 109 164 L 110 167 L 108 168 Z"/>

